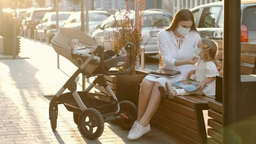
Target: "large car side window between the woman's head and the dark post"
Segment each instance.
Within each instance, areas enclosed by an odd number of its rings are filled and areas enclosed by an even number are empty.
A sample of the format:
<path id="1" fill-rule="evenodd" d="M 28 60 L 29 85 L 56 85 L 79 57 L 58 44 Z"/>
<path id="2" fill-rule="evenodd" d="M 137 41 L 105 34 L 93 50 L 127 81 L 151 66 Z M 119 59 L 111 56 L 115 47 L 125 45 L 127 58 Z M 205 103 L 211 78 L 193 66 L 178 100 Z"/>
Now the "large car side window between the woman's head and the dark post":
<path id="1" fill-rule="evenodd" d="M 214 28 L 220 13 L 220 9 L 221 7 L 204 8 L 198 24 L 198 28 Z"/>

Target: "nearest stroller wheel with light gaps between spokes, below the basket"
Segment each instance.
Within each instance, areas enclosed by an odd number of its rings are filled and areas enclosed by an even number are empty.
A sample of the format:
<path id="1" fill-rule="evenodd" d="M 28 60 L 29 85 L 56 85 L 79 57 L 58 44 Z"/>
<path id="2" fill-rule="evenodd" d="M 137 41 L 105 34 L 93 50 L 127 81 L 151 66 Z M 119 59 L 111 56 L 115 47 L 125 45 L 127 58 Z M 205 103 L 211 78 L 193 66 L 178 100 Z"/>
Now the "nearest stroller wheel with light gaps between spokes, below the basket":
<path id="1" fill-rule="evenodd" d="M 104 130 L 104 120 L 100 112 L 94 108 L 84 110 L 79 116 L 78 128 L 88 139 L 99 138 Z"/>

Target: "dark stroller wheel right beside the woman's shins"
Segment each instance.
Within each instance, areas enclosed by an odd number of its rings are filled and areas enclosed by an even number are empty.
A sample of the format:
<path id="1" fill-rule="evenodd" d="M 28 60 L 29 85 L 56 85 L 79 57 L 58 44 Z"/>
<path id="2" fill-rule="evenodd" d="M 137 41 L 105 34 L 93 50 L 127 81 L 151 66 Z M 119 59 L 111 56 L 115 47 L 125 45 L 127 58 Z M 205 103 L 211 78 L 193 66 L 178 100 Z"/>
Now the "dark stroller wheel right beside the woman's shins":
<path id="1" fill-rule="evenodd" d="M 120 119 L 116 120 L 116 123 L 124 130 L 130 130 L 132 128 L 132 124 L 137 119 L 138 108 L 135 104 L 128 100 L 124 100 L 119 103 L 120 111 L 118 115 L 121 116 Z"/>

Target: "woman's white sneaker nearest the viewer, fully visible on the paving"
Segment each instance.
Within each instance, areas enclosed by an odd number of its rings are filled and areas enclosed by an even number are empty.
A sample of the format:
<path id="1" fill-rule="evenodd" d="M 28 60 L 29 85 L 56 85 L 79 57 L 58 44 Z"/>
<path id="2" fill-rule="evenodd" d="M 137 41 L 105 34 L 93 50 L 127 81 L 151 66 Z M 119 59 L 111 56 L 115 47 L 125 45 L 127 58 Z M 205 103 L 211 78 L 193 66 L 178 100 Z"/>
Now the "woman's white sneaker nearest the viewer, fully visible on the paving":
<path id="1" fill-rule="evenodd" d="M 137 138 L 140 138 L 144 134 L 150 131 L 150 124 L 148 124 L 146 127 L 141 126 L 139 123 L 134 127 L 134 131 L 128 134 L 127 138 L 130 140 L 134 140 Z"/>

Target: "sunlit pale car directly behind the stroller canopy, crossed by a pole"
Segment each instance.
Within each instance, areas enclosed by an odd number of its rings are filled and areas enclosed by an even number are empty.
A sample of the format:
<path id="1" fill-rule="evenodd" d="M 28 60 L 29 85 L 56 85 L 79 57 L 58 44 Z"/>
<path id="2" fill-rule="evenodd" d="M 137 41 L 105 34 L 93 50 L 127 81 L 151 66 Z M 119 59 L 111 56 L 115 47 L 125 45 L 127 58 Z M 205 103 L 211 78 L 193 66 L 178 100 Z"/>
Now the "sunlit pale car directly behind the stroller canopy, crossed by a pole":
<path id="1" fill-rule="evenodd" d="M 96 30 L 96 26 L 102 24 L 104 20 L 108 18 L 108 12 L 102 10 L 89 10 L 89 35 Z M 84 16 L 85 22 L 85 16 Z M 81 11 L 73 12 L 68 20 L 65 22 L 65 28 L 74 28 L 76 30 L 81 30 Z"/>

